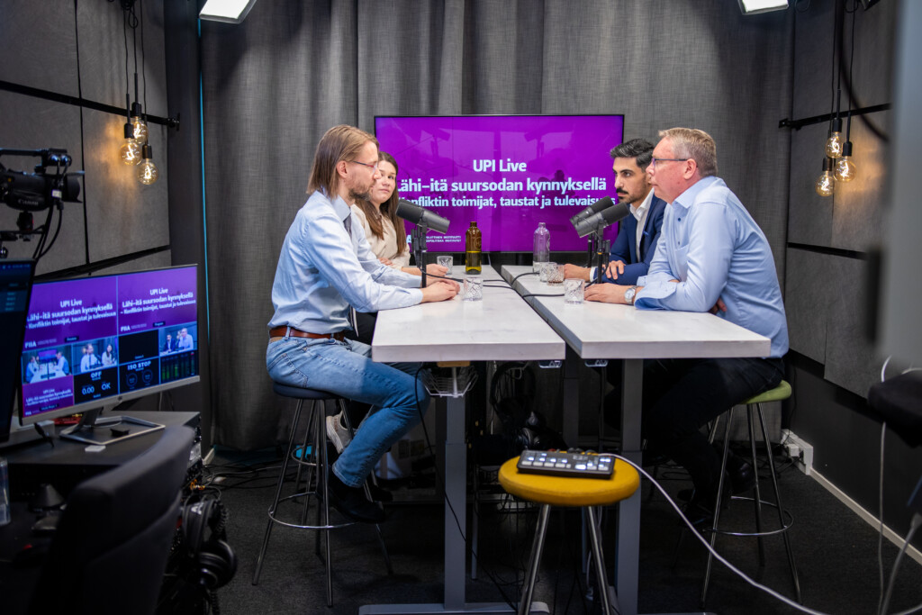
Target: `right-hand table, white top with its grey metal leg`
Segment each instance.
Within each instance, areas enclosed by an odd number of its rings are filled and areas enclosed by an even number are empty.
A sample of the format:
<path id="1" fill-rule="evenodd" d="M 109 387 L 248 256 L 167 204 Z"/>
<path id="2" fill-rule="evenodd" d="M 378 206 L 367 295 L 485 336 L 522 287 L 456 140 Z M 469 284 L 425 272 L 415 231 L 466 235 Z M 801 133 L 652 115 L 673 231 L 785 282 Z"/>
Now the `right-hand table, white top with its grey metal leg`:
<path id="1" fill-rule="evenodd" d="M 512 280 L 531 270 L 529 266 L 503 266 L 502 276 Z M 537 276 L 515 281 L 515 290 L 553 293 Z M 710 313 L 637 310 L 631 305 L 585 302 L 567 305 L 562 297 L 526 299 L 546 318 L 567 343 L 567 356 L 592 359 L 624 359 L 621 387 L 621 454 L 641 463 L 640 408 L 643 393 L 644 359 L 690 359 L 712 357 L 767 357 L 772 342 L 728 323 Z M 567 390 L 564 389 L 564 395 Z M 578 411 L 567 404 L 564 412 Z M 564 415 L 563 423 L 576 424 Z M 566 438 L 566 434 L 564 434 Z M 637 565 L 640 559 L 640 490 L 621 503 L 618 514 L 616 589 L 623 615 L 637 613 Z"/>

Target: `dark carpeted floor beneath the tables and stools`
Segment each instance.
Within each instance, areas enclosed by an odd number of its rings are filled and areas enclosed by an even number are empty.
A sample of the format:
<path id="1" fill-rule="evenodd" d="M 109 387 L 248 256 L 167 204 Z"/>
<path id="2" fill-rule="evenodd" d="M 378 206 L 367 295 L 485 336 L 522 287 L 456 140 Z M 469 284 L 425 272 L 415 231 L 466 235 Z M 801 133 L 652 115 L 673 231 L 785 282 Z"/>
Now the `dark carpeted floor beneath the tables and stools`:
<path id="1" fill-rule="evenodd" d="M 274 455 L 224 452 L 209 470 L 215 477 L 225 477 L 216 486 L 221 488 L 230 512 L 228 540 L 239 561 L 235 578 L 218 592 L 221 613 L 355 613 L 365 604 L 443 600 L 443 504 L 435 499 L 434 476 L 421 475 L 412 484 L 388 485 L 395 491 L 397 503 L 387 506 L 388 519 L 381 528 L 394 574 L 387 574 L 373 526 L 355 525 L 333 532 L 334 606 L 328 609 L 325 574 L 314 554 L 313 533 L 277 526 L 259 585 L 252 585 L 266 529 L 266 509 L 278 478 Z M 670 493 L 688 485 L 677 469 L 660 470 L 660 476 Z M 767 488 L 767 480 L 764 482 Z M 877 613 L 881 586 L 874 529 L 793 468 L 781 472 L 780 485 L 786 507 L 795 519 L 790 536 L 804 605 L 826 613 Z M 646 500 L 648 482 L 644 481 L 642 490 Z M 467 580 L 467 600 L 517 601 L 537 514 L 489 492 L 484 500 L 479 515 L 479 575 L 476 580 Z M 609 511 L 604 522 L 609 575 L 613 574 L 614 514 L 614 510 Z M 471 516 L 468 514 L 468 519 Z M 751 504 L 734 501 L 725 517 L 738 526 L 751 523 Z M 641 612 L 699 609 L 706 551 L 688 532 L 677 551 L 682 534 L 678 516 L 661 494 L 644 502 Z M 535 599 L 547 602 L 553 613 L 589 612 L 584 599 L 585 577 L 578 574 L 579 546 L 579 514 L 555 511 L 535 590 Z M 716 544 L 717 550 L 758 583 L 793 596 L 782 538 L 767 538 L 765 546 L 767 562 L 760 568 L 754 539 L 720 537 Z M 883 566 L 888 577 L 896 553 L 885 540 Z M 920 573 L 922 567 L 904 559 L 890 612 L 922 603 Z M 718 563 L 706 608 L 725 614 L 797 612 Z"/>

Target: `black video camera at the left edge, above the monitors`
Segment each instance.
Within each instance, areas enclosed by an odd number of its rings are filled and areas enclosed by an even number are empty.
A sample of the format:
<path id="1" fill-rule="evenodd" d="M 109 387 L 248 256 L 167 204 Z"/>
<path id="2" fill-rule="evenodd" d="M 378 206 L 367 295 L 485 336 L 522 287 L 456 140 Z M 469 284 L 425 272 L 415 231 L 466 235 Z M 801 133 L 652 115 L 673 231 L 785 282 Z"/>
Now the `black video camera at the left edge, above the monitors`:
<path id="1" fill-rule="evenodd" d="M 11 171 L 0 163 L 0 201 L 19 210 L 16 220 L 17 231 L 0 231 L 0 258 L 6 256 L 3 242 L 15 242 L 18 239 L 28 242 L 32 235 L 41 234 L 39 247 L 34 258 L 47 252 L 44 248 L 53 215 L 52 206 L 59 211 L 64 201 L 76 203 L 80 194 L 78 176 L 83 171 L 67 172 L 72 162 L 66 149 L 4 149 L 2 156 L 37 156 L 41 162 L 35 165 L 35 172 Z M 35 228 L 32 213 L 48 209 L 48 218 L 40 227 Z M 60 231 L 60 218 L 58 219 Z M 55 232 L 55 238 L 57 233 Z M 52 240 L 53 243 L 53 240 Z M 49 248 L 51 245 L 48 246 Z"/>

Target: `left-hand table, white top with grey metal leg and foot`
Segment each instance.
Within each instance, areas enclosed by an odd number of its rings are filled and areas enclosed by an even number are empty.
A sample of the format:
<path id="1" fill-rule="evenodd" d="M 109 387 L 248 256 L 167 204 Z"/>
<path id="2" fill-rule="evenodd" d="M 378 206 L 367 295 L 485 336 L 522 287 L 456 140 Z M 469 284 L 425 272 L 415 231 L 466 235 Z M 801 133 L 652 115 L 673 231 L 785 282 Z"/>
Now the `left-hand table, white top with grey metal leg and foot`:
<path id="1" fill-rule="evenodd" d="M 378 313 L 372 340 L 374 361 L 561 360 L 564 343 L 491 267 L 483 270 L 483 301 L 420 303 Z M 491 288 L 502 286 L 504 288 Z M 504 603 L 467 604 L 467 444 L 464 399 L 450 397 L 445 409 L 445 593 L 443 604 L 374 605 L 372 613 L 508 613 Z M 454 505 L 455 512 L 448 506 Z M 455 522 L 455 515 L 457 521 Z M 537 603 L 536 603 L 537 606 Z"/>

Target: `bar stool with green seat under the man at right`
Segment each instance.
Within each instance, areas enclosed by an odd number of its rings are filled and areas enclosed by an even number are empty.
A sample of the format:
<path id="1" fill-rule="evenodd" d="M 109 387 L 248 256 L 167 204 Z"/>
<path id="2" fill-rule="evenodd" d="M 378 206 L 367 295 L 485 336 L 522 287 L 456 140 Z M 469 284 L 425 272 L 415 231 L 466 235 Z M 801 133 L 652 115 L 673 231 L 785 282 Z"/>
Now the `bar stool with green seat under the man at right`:
<path id="1" fill-rule="evenodd" d="M 749 435 L 750 435 L 750 451 L 752 457 L 752 467 L 756 472 L 756 482 L 755 487 L 753 488 L 753 497 L 741 497 L 733 496 L 732 500 L 748 500 L 754 504 L 755 509 L 755 526 L 756 531 L 754 532 L 731 532 L 724 529 L 721 529 L 719 526 L 720 522 L 720 506 L 715 506 L 714 511 L 714 522 L 710 528 L 711 532 L 711 547 L 714 547 L 716 538 L 718 534 L 723 534 L 725 536 L 750 536 L 755 537 L 759 544 L 759 565 L 765 565 L 765 547 L 762 542 L 762 538 L 766 536 L 774 536 L 775 534 L 781 534 L 782 538 L 785 540 L 785 550 L 787 552 L 787 563 L 791 569 L 791 579 L 794 581 L 794 591 L 797 597 L 797 601 L 800 602 L 800 582 L 798 581 L 798 569 L 797 565 L 794 562 L 794 552 L 791 550 L 791 538 L 787 535 L 787 530 L 794 523 L 793 516 L 785 510 L 784 506 L 781 503 L 781 492 L 778 491 L 778 479 L 774 473 L 774 459 L 772 457 L 772 448 L 769 444 L 768 439 L 768 430 L 765 428 L 765 416 L 762 413 L 762 404 L 770 401 L 782 401 L 791 396 L 791 385 L 787 384 L 786 381 L 782 380 L 781 384 L 778 384 L 769 391 L 765 391 L 757 396 L 751 397 L 750 399 L 743 402 L 746 406 L 746 419 L 749 424 Z M 772 478 L 772 489 L 774 491 L 774 503 L 767 502 L 762 500 L 762 496 L 759 491 L 759 464 L 758 458 L 756 456 L 756 447 L 755 447 L 755 429 L 753 427 L 753 417 L 752 412 L 758 414 L 759 424 L 762 427 L 762 442 L 765 444 L 765 456 L 768 459 L 769 467 L 769 476 Z M 730 423 L 733 419 L 733 408 L 727 410 L 727 419 L 724 426 L 724 455 L 723 461 L 721 463 L 722 471 L 720 473 L 720 481 L 717 484 L 717 502 L 722 502 L 722 495 L 725 488 L 725 474 L 727 471 L 727 457 L 729 456 L 729 442 L 730 442 Z M 716 431 L 716 423 L 714 425 L 713 432 Z M 762 504 L 766 506 L 772 506 L 777 511 L 778 514 L 778 524 L 779 526 L 776 529 L 766 530 L 762 528 Z M 704 573 L 704 583 L 701 590 L 701 608 L 704 608 L 704 600 L 707 598 L 707 587 L 711 579 L 711 566 L 714 562 L 714 556 L 711 554 L 711 551 L 707 552 L 707 568 Z"/>

